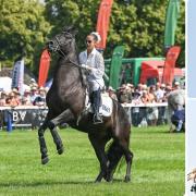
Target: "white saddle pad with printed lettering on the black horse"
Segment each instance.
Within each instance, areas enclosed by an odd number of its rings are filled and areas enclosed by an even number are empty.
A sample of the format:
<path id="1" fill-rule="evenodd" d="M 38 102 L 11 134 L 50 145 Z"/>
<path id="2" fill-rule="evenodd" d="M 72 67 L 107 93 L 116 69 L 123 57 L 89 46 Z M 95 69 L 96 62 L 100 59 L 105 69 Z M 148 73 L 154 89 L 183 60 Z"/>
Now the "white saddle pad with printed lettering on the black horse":
<path id="1" fill-rule="evenodd" d="M 86 98 L 86 100 L 89 100 L 89 98 Z M 90 113 L 94 112 L 90 102 L 88 102 L 86 109 Z M 101 106 L 99 108 L 99 114 L 101 114 L 102 117 L 110 117 L 112 113 L 112 109 L 113 109 L 112 99 L 109 97 L 108 94 L 101 94 Z"/>

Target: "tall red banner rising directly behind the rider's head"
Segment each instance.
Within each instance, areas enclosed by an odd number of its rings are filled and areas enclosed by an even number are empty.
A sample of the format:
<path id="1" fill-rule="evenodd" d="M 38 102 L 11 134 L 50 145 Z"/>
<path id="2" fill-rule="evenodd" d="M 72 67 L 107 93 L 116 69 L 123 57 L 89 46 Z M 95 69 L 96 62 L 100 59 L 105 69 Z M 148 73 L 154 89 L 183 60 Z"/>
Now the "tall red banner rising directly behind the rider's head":
<path id="1" fill-rule="evenodd" d="M 96 32 L 101 36 L 101 41 L 96 46 L 98 49 L 106 48 L 112 3 L 113 0 L 102 0 L 99 7 Z"/>

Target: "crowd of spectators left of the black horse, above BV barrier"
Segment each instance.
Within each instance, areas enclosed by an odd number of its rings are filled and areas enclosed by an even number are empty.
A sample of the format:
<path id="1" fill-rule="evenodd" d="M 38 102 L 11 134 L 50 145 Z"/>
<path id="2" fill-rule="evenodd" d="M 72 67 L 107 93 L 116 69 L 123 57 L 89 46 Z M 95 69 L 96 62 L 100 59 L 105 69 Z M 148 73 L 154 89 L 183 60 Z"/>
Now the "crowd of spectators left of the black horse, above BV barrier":
<path id="1" fill-rule="evenodd" d="M 24 90 L 21 95 L 17 88 L 13 88 L 11 91 L 0 90 L 0 107 L 10 106 L 46 106 L 47 88 L 38 87 L 33 81 L 29 88 Z"/>

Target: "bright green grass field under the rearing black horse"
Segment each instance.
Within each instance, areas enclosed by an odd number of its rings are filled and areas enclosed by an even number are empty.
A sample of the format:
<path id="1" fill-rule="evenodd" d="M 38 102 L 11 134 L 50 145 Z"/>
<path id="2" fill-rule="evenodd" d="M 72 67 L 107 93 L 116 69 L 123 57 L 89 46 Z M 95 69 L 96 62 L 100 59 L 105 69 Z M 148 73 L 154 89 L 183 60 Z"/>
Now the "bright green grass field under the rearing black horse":
<path id="1" fill-rule="evenodd" d="M 121 180 L 123 164 L 113 183 L 95 184 L 99 164 L 87 135 L 61 130 L 65 154 L 56 152 L 46 133 L 50 162 L 40 164 L 36 131 L 0 132 L 0 196 L 182 196 L 184 194 L 184 134 L 167 133 L 167 126 L 133 128 L 132 182 Z"/>

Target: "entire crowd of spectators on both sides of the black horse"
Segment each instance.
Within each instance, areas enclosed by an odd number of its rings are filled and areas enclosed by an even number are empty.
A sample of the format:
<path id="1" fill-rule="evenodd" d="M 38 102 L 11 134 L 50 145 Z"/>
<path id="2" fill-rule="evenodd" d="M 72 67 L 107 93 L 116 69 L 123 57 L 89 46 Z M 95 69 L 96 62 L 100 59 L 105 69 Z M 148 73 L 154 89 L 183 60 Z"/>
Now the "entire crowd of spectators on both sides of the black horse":
<path id="1" fill-rule="evenodd" d="M 139 105 L 167 102 L 169 93 L 181 88 L 180 83 L 174 86 L 157 83 L 147 86 L 138 84 L 136 87 L 132 84 L 123 84 L 114 90 L 112 87 L 107 89 L 109 96 L 123 105 L 132 103 L 131 117 L 134 126 L 140 126 L 144 122 L 148 125 L 166 123 L 166 107 L 137 107 Z M 46 106 L 46 94 L 48 89 L 38 87 L 35 81 L 32 82 L 28 89 L 21 95 L 16 88 L 10 93 L 0 90 L 0 107 L 10 106 Z"/>

